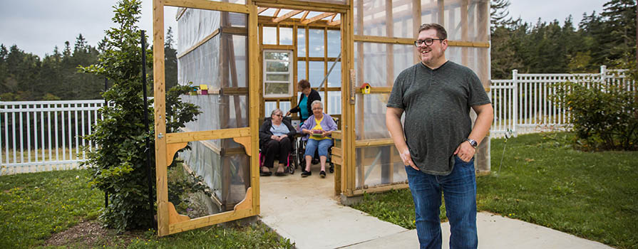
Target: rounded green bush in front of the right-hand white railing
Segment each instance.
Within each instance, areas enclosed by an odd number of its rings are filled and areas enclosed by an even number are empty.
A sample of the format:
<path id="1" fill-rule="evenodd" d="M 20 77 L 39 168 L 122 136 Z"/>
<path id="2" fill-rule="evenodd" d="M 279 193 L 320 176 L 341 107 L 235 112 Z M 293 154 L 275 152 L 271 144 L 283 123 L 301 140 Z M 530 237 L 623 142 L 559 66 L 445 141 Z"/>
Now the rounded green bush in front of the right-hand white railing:
<path id="1" fill-rule="evenodd" d="M 552 99 L 569 110 L 577 148 L 638 150 L 638 78 L 635 66 L 629 68 L 621 84 L 567 82 L 557 88 Z"/>

